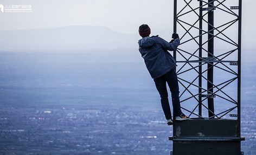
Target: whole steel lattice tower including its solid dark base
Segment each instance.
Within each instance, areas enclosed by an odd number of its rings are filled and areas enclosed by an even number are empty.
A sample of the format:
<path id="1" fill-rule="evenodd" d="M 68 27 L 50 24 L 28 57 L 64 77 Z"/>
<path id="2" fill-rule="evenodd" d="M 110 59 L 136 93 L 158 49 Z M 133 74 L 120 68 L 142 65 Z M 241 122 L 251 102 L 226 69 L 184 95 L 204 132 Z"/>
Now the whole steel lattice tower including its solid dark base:
<path id="1" fill-rule="evenodd" d="M 241 0 L 174 0 L 183 112 L 173 154 L 242 154 Z"/>

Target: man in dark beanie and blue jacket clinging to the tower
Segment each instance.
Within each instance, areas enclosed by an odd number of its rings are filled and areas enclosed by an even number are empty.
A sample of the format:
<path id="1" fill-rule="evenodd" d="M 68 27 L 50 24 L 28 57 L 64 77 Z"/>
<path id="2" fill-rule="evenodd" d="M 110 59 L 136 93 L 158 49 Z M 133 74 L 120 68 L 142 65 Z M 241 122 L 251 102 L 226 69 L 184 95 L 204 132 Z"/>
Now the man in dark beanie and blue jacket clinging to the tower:
<path id="1" fill-rule="evenodd" d="M 172 125 L 171 110 L 168 100 L 167 83 L 171 92 L 172 107 L 174 111 L 175 120 L 189 119 L 181 111 L 178 79 L 176 74 L 176 61 L 168 50 L 176 50 L 180 44 L 178 34 L 172 34 L 173 40 L 165 41 L 158 36 L 149 36 L 151 33 L 150 27 L 147 24 L 142 24 L 139 27 L 139 35 L 142 37 L 138 41 L 139 52 L 142 55 L 146 68 L 152 79 L 155 81 L 157 91 L 161 97 L 161 105 L 164 111 L 165 118 L 168 125 Z"/>

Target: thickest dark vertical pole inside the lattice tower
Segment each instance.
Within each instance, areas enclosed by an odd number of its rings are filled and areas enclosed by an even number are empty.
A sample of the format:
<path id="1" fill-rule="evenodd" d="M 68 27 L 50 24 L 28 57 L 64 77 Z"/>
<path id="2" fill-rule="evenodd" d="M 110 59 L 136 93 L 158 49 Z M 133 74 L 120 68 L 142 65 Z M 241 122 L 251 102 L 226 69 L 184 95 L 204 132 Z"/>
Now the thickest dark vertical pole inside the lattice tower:
<path id="1" fill-rule="evenodd" d="M 214 1 L 208 0 L 208 57 L 214 56 Z M 207 91 L 208 91 L 208 115 L 214 115 L 213 100 L 213 62 L 208 63 L 207 71 Z"/>

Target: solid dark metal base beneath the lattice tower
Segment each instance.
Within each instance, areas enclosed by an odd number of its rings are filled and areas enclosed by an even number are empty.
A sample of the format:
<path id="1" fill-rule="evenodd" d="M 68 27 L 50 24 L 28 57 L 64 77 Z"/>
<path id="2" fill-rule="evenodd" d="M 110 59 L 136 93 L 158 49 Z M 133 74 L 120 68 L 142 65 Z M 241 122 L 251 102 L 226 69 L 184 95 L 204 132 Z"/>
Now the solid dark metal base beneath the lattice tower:
<path id="1" fill-rule="evenodd" d="M 174 122 L 171 154 L 241 155 L 238 122 L 229 119 L 191 119 Z"/>

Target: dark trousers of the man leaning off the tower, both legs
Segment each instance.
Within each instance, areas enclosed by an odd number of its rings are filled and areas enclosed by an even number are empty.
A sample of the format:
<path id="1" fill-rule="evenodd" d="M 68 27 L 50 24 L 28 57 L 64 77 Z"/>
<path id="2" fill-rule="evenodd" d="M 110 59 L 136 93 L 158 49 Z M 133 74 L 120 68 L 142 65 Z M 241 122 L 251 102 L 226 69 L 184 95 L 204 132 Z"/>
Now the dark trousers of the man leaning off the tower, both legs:
<path id="1" fill-rule="evenodd" d="M 171 119 L 171 109 L 168 100 L 168 92 L 167 92 L 167 83 L 171 91 L 171 99 L 172 99 L 172 107 L 174 109 L 174 115 L 180 116 L 181 112 L 181 104 L 179 98 L 179 90 L 178 90 L 178 79 L 176 70 L 173 68 L 163 76 L 154 79 L 157 91 L 161 97 L 161 105 L 164 111 L 165 118 Z"/>

